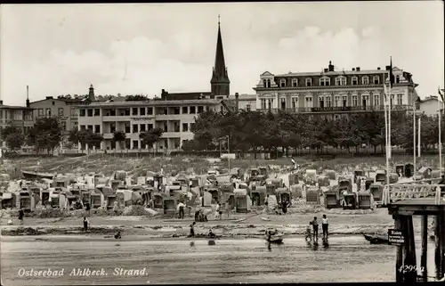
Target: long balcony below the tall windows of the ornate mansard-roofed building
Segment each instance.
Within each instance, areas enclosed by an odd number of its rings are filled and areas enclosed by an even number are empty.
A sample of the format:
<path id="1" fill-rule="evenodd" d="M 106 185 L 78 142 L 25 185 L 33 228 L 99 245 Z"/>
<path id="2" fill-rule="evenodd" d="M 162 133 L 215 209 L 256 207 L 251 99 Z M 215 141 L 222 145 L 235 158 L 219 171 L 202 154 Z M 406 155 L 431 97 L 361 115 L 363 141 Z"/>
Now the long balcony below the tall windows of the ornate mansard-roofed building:
<path id="1" fill-rule="evenodd" d="M 392 111 L 410 111 L 411 105 L 393 105 Z M 349 112 L 369 112 L 369 111 L 384 111 L 383 105 L 377 106 L 339 106 L 339 107 L 299 107 L 287 109 L 259 109 L 259 111 L 278 113 L 279 110 L 295 113 L 349 113 Z"/>

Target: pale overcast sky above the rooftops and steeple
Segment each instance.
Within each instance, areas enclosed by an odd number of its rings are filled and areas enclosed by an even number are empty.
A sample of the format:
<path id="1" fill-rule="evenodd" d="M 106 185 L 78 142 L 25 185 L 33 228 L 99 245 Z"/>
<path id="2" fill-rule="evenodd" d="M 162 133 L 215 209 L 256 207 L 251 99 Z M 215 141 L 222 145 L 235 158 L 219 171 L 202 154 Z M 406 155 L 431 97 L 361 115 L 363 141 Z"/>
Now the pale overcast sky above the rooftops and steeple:
<path id="1" fill-rule="evenodd" d="M 6 4 L 0 95 L 23 105 L 59 94 L 210 91 L 218 14 L 231 93 L 260 74 L 376 69 L 444 86 L 442 1 L 227 4 Z"/>

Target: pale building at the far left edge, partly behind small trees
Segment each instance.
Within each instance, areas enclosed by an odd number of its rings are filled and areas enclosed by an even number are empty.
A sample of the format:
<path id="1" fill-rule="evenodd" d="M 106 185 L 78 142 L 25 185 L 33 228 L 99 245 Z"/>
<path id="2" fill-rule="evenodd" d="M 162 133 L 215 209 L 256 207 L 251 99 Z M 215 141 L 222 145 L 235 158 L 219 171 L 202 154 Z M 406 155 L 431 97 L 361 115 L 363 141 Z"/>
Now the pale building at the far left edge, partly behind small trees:
<path id="1" fill-rule="evenodd" d="M 3 148 L 5 147 L 3 130 L 10 125 L 20 127 L 23 134 L 27 134 L 34 126 L 32 109 L 25 106 L 4 105 L 3 101 L 0 101 L 0 146 Z"/>

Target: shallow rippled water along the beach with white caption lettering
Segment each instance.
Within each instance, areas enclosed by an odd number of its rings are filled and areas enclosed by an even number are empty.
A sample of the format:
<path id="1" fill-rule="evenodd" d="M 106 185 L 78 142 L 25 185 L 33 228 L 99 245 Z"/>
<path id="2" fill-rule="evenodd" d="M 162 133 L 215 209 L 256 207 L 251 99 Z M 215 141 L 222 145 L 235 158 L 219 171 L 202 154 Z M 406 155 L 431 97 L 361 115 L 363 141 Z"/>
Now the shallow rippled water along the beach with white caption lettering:
<path id="1" fill-rule="evenodd" d="M 193 244 L 192 246 L 190 244 Z M 419 245 L 417 243 L 417 245 Z M 180 241 L 3 241 L 5 285 L 222 282 L 392 282 L 395 247 L 370 245 L 360 236 L 332 237 L 329 247 L 302 238 L 282 245 L 260 239 Z M 433 266 L 433 245 L 429 247 Z M 20 268 L 65 269 L 61 277 L 20 277 Z M 70 276 L 73 268 L 104 268 L 105 276 Z M 147 274 L 113 274 L 115 267 Z M 430 270 L 430 273 L 433 269 Z M 433 273 L 432 273 L 433 274 Z M 431 275 L 431 274 L 430 274 Z"/>

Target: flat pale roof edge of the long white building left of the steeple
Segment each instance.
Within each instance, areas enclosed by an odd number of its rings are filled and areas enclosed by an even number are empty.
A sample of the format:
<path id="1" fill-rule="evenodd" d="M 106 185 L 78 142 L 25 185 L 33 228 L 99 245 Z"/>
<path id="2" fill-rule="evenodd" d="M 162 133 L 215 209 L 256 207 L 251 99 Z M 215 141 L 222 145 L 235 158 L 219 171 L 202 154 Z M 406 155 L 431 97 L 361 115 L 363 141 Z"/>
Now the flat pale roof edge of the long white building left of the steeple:
<path id="1" fill-rule="evenodd" d="M 185 101 L 146 101 L 146 102 L 92 102 L 88 105 L 79 105 L 79 107 L 139 107 L 145 106 L 166 106 L 166 105 L 212 105 L 219 104 L 222 100 L 217 99 L 198 99 L 198 100 L 185 100 Z"/>

